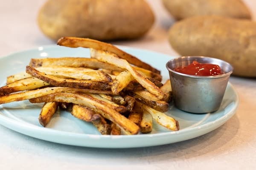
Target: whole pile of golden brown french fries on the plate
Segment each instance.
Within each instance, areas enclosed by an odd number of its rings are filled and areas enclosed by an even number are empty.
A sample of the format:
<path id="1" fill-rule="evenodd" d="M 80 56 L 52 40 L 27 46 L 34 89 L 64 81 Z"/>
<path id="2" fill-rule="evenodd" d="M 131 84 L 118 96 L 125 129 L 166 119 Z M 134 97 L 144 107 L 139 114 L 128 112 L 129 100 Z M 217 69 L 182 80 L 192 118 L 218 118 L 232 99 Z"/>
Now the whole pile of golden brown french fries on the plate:
<path id="1" fill-rule="evenodd" d="M 58 45 L 90 48 L 90 58 L 31 59 L 26 71 L 7 77 L 0 104 L 29 99 L 44 103 L 39 122 L 46 126 L 58 107 L 91 122 L 103 135 L 149 133 L 152 120 L 179 130 L 169 109 L 171 85 L 160 71 L 114 45 L 64 37 Z"/>

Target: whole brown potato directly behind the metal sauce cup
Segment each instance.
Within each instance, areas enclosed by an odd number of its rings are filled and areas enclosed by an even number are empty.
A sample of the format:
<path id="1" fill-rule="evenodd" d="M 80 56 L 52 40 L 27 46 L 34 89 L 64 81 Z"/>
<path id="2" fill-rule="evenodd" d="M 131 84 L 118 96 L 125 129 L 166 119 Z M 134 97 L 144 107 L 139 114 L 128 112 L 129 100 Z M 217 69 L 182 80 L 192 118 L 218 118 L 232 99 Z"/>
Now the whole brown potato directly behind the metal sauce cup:
<path id="1" fill-rule="evenodd" d="M 189 17 L 169 30 L 182 56 L 208 56 L 233 65 L 233 75 L 256 77 L 256 22 L 221 16 Z"/>

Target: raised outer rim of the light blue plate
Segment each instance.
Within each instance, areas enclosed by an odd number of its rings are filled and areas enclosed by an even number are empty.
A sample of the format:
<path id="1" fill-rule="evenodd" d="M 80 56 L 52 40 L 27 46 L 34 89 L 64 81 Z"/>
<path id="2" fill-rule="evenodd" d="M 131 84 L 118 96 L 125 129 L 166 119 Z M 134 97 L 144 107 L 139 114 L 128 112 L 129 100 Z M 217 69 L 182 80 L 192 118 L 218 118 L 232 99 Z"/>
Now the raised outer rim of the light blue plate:
<path id="1" fill-rule="evenodd" d="M 152 52 L 152 53 L 164 55 L 165 57 L 170 57 L 170 59 L 175 58 L 173 56 L 169 56 L 168 54 L 160 53 L 160 52 L 157 52 L 157 51 L 151 51 L 151 50 L 146 50 L 146 49 L 142 49 L 142 48 L 128 47 L 128 46 L 124 46 L 124 45 L 116 45 L 116 46 L 120 47 L 122 50 L 131 49 L 131 50 L 135 50 L 135 51 Z M 45 49 L 47 50 L 49 48 L 57 48 L 57 47 L 60 47 L 60 46 L 58 46 L 58 45 L 42 45 L 42 46 L 38 46 L 38 47 L 35 47 L 35 48 L 30 48 L 30 49 L 26 49 L 26 50 L 22 50 L 22 51 L 15 51 L 13 53 L 10 53 L 10 54 L 4 55 L 4 56 L 0 56 L 0 59 L 4 59 L 4 58 L 9 57 L 9 56 L 15 56 L 17 54 L 25 53 L 25 52 L 28 52 L 28 51 L 39 51 L 38 48 L 40 48 L 40 47 L 43 47 L 44 50 Z M 90 138 L 90 139 L 103 138 L 103 139 L 111 139 L 111 140 L 112 139 L 115 139 L 115 140 L 127 139 L 127 138 L 128 139 L 133 139 L 133 138 L 140 139 L 140 138 L 152 137 L 152 136 L 153 137 L 154 136 L 156 136 L 156 137 L 170 136 L 170 135 L 174 135 L 174 134 L 189 133 L 190 131 L 193 131 L 193 130 L 196 130 L 196 129 L 210 128 L 211 125 L 215 125 L 212 128 L 212 130 L 215 130 L 216 128 L 220 127 L 225 122 L 227 122 L 227 120 L 230 119 L 236 113 L 236 110 L 239 106 L 239 95 L 238 95 L 236 89 L 233 87 L 233 85 L 230 82 L 228 82 L 227 87 L 231 88 L 233 90 L 234 94 L 235 94 L 234 106 L 227 114 L 221 116 L 218 119 L 215 119 L 214 121 L 207 122 L 203 125 L 198 125 L 198 126 L 195 126 L 195 127 L 186 128 L 186 129 L 182 129 L 182 130 L 179 130 L 179 131 L 170 131 L 170 132 L 164 132 L 164 133 L 143 134 L 143 135 L 131 135 L 131 136 L 126 136 L 126 135 L 111 136 L 111 135 L 86 134 L 86 133 L 76 133 L 76 132 L 73 133 L 73 132 L 66 132 L 66 131 L 61 131 L 61 130 L 49 129 L 49 128 L 45 128 L 45 127 L 39 127 L 39 126 L 36 126 L 36 125 L 29 124 L 28 122 L 20 122 L 20 121 L 17 121 L 15 119 L 11 119 L 7 116 L 4 116 L 3 114 L 0 114 L 0 124 L 9 128 L 9 129 L 12 129 L 12 130 L 18 132 L 18 133 L 22 133 L 24 135 L 31 136 L 31 137 L 34 137 L 34 138 L 37 138 L 37 139 L 41 139 L 41 138 L 38 138 L 38 137 L 35 137 L 35 136 L 32 136 L 32 135 L 28 135 L 26 133 L 20 132 L 20 130 L 18 130 L 17 128 L 19 128 L 19 127 L 22 127 L 22 128 L 33 127 L 32 128 L 33 130 L 44 131 L 44 133 L 45 132 L 50 133 L 50 135 L 58 133 L 61 136 L 66 135 L 66 136 L 76 136 L 76 137 L 85 138 L 85 139 L 87 139 L 87 138 Z M 3 106 L 0 105 L 0 108 L 3 108 Z M 5 120 L 5 122 L 3 120 Z M 12 128 L 10 128 L 10 125 L 11 125 Z M 212 130 L 209 130 L 206 133 L 209 133 Z M 185 140 L 192 139 L 192 138 L 201 136 L 201 135 L 206 134 L 206 133 L 203 132 L 202 134 L 192 136 L 192 137 L 187 138 Z M 45 140 L 45 139 L 42 139 L 42 140 Z M 101 146 L 88 146 L 86 144 L 85 145 L 79 145 L 79 144 L 70 144 L 70 143 L 67 143 L 67 142 L 56 142 L 54 140 L 49 140 L 49 139 L 47 139 L 45 141 L 55 142 L 55 143 L 60 143 L 60 144 L 83 146 L 83 147 L 98 147 L 98 148 L 101 147 Z M 179 141 L 183 141 L 183 140 L 179 140 Z M 179 142 L 179 141 L 176 141 L 176 142 Z M 170 143 L 174 143 L 174 142 L 170 142 Z M 169 144 L 169 143 L 163 143 L 163 144 Z M 145 144 L 143 146 L 133 146 L 133 147 L 147 147 L 147 146 L 156 146 L 156 145 L 161 145 L 161 144 Z M 110 146 L 110 147 L 102 147 L 102 148 L 132 148 L 132 146 L 127 146 L 127 147 L 125 147 L 125 146 L 124 147 L 114 147 L 114 146 L 111 147 Z"/>

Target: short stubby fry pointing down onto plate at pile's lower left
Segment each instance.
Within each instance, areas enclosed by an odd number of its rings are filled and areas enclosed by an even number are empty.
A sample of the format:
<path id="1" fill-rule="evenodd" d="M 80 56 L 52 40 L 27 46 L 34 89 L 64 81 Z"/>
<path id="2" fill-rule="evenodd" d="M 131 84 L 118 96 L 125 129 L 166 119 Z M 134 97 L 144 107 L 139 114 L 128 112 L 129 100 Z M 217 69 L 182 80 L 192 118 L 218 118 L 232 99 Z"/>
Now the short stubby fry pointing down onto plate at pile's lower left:
<path id="1" fill-rule="evenodd" d="M 58 108 L 58 102 L 45 102 L 38 120 L 42 126 L 46 126 Z"/>

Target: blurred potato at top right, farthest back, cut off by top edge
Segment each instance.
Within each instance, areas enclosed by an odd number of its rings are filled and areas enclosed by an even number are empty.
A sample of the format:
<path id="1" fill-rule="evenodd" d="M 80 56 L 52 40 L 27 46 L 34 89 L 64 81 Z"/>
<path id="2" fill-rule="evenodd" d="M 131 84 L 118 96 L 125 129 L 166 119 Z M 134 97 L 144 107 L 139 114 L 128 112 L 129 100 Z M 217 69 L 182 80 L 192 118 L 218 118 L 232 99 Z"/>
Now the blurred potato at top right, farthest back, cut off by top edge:
<path id="1" fill-rule="evenodd" d="M 241 0 L 163 0 L 163 4 L 177 20 L 198 15 L 251 18 Z"/>

